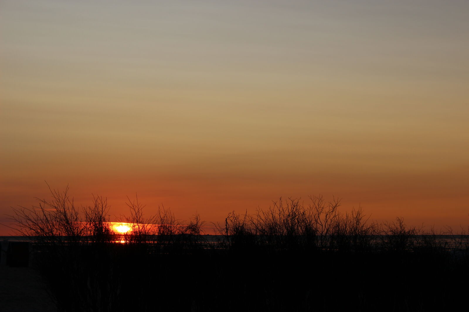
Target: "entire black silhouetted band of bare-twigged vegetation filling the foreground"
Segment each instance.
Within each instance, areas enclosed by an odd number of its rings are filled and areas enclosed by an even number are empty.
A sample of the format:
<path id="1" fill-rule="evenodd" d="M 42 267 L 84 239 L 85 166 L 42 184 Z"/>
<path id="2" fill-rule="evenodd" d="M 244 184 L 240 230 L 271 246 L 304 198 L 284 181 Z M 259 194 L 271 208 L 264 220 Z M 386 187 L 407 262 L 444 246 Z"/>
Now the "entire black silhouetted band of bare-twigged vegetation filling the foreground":
<path id="1" fill-rule="evenodd" d="M 204 235 L 159 208 L 113 232 L 106 199 L 77 208 L 51 201 L 15 209 L 19 235 L 34 240 L 33 265 L 59 311 L 452 311 L 464 306 L 469 239 L 462 231 L 377 224 L 339 200 L 279 200 L 254 214 L 228 214 Z"/>

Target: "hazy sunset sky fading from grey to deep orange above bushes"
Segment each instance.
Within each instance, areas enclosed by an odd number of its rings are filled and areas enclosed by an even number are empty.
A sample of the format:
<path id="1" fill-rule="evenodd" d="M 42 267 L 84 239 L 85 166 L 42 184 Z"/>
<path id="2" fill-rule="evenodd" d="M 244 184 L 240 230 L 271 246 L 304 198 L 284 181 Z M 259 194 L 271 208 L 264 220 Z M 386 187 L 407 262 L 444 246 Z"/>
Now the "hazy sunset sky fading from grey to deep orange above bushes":
<path id="1" fill-rule="evenodd" d="M 70 187 L 469 225 L 469 2 L 0 0 L 0 223 Z M 0 235 L 11 234 L 0 225 Z"/>

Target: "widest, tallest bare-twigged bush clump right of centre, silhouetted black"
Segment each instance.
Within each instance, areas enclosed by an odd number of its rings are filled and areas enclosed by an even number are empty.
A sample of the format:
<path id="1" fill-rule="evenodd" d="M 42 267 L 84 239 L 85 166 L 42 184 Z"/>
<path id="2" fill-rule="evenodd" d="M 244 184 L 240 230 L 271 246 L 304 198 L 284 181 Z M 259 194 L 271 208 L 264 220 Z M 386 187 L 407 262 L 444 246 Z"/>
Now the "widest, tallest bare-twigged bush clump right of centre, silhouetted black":
<path id="1" fill-rule="evenodd" d="M 361 208 L 340 213 L 340 199 L 326 202 L 310 196 L 305 206 L 298 198 L 273 202 L 252 215 L 231 212 L 225 226 L 218 225 L 227 246 L 272 247 L 275 250 L 358 250 L 371 246 L 377 225 L 368 223 Z"/>

